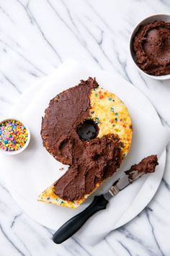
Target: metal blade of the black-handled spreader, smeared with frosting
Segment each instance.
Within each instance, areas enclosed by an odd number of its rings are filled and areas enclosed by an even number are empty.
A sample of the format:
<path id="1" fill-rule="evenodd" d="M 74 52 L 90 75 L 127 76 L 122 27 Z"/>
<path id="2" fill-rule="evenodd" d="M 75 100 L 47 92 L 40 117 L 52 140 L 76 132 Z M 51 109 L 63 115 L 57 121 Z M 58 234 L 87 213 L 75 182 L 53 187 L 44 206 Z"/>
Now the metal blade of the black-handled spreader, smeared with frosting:
<path id="1" fill-rule="evenodd" d="M 138 171 L 125 171 L 124 174 L 117 179 L 116 182 L 112 184 L 112 187 L 109 188 L 108 192 L 104 194 L 104 198 L 109 200 L 112 197 L 115 197 L 122 189 L 128 187 L 129 184 L 135 182 L 138 178 L 143 176 L 144 172 Z"/>

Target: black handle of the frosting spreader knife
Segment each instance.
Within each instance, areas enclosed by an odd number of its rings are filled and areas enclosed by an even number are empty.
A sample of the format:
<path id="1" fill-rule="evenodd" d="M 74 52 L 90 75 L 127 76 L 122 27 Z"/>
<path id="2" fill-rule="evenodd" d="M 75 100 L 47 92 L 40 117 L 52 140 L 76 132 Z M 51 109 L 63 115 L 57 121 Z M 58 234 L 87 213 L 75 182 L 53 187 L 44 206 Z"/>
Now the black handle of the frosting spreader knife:
<path id="1" fill-rule="evenodd" d="M 73 236 L 73 234 L 84 225 L 88 218 L 99 210 L 104 210 L 107 207 L 107 203 L 108 201 L 103 195 L 95 196 L 93 202 L 91 202 L 85 210 L 68 220 L 53 234 L 53 242 L 55 242 L 55 244 L 61 244 Z"/>

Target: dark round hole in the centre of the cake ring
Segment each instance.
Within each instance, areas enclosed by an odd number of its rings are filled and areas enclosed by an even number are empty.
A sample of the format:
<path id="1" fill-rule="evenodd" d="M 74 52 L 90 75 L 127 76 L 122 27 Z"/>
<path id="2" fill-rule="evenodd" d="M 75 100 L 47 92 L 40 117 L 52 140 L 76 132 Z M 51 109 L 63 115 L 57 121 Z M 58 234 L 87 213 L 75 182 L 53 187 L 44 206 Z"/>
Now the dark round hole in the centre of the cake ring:
<path id="1" fill-rule="evenodd" d="M 93 120 L 85 120 L 76 129 L 81 140 L 91 140 L 97 137 L 97 124 Z"/>

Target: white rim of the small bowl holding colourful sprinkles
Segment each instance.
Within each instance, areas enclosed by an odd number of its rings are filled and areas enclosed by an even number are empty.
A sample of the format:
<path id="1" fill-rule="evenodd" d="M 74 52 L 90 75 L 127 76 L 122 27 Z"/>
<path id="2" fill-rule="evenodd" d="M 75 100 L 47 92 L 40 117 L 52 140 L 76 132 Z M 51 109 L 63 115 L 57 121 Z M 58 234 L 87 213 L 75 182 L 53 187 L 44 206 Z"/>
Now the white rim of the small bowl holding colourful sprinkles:
<path id="1" fill-rule="evenodd" d="M 17 118 L 13 118 L 13 117 L 8 117 L 6 119 L 2 119 L 0 120 L 0 124 L 3 123 L 4 121 L 8 121 L 8 120 L 14 120 L 14 121 L 19 121 L 26 129 L 27 129 L 27 142 L 24 144 L 24 147 L 17 150 L 17 151 L 5 151 L 3 149 L 0 148 L 0 152 L 1 153 L 4 153 L 5 155 L 17 155 L 19 153 L 22 153 L 25 148 L 27 148 L 27 146 L 29 145 L 30 143 L 30 137 L 31 137 L 31 134 L 30 134 L 30 129 L 27 127 L 27 124 L 24 123 L 24 121 L 22 121 L 21 119 L 17 119 Z"/>

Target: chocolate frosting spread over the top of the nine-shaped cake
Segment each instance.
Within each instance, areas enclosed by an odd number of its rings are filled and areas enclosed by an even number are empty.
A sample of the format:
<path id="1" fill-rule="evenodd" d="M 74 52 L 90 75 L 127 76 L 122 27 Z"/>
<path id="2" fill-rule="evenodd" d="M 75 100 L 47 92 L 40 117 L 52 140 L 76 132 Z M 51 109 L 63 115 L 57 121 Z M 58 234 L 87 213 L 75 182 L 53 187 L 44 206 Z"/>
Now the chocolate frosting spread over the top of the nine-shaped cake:
<path id="1" fill-rule="evenodd" d="M 89 95 L 97 87 L 91 77 L 81 80 L 53 98 L 42 119 L 43 145 L 58 161 L 70 166 L 55 182 L 55 194 L 63 200 L 78 200 L 90 194 L 120 166 L 117 135 L 84 141 L 76 132 L 81 122 L 89 119 Z"/>

